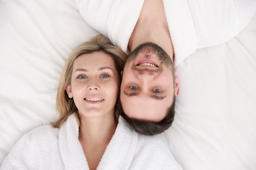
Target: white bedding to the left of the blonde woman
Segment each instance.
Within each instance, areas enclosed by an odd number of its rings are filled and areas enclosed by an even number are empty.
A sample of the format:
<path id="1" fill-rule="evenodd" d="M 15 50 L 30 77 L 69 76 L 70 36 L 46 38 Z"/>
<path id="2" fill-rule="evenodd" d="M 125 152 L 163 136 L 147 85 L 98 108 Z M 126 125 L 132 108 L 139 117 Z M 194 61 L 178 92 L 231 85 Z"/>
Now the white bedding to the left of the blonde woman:
<path id="1" fill-rule="evenodd" d="M 0 0 L 0 163 L 33 127 L 56 120 L 66 58 L 96 35 L 69 0 Z"/>

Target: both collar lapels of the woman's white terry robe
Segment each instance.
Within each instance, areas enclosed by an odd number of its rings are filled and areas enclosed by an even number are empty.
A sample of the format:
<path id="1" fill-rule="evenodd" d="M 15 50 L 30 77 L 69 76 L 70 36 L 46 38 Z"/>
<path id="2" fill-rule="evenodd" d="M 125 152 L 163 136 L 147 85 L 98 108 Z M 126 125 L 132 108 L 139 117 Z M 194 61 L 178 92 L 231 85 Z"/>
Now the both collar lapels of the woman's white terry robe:
<path id="1" fill-rule="evenodd" d="M 75 114 L 72 114 L 59 131 L 60 154 L 66 169 L 89 169 L 78 136 L 79 126 Z M 129 169 L 137 141 L 138 133 L 133 131 L 120 116 L 114 136 L 97 169 Z"/>

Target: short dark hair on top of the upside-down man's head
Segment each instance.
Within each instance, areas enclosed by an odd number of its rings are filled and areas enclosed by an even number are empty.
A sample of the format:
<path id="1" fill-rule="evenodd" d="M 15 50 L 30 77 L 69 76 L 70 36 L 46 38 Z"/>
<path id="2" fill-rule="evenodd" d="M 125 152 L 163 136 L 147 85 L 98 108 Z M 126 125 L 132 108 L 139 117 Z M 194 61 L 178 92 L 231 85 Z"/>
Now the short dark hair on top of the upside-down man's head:
<path id="1" fill-rule="evenodd" d="M 118 102 L 118 109 L 121 116 L 126 120 L 126 122 L 135 129 L 135 131 L 144 135 L 156 135 L 162 133 L 168 129 L 171 124 L 173 124 L 175 116 L 175 97 L 173 97 L 173 103 L 171 107 L 167 109 L 166 116 L 160 122 L 152 122 L 147 120 L 139 120 L 137 118 L 129 118 L 121 107 L 121 102 Z M 139 114 L 139 112 L 138 112 Z"/>

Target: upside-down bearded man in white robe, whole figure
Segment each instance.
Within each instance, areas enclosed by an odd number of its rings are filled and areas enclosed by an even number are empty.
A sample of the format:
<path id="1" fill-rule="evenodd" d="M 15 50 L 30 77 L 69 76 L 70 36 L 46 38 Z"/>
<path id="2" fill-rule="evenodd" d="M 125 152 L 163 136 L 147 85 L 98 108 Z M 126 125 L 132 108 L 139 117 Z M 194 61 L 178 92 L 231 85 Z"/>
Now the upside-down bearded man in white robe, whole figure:
<path id="1" fill-rule="evenodd" d="M 114 44 L 123 50 L 129 45 L 120 91 L 123 116 L 137 130 L 141 122 L 154 124 L 142 125 L 152 129 L 147 132 L 138 130 L 152 135 L 171 126 L 179 94 L 179 78 L 166 56 L 177 66 L 196 49 L 238 35 L 255 13 L 256 2 L 79 1 L 79 8 L 87 23 Z"/>

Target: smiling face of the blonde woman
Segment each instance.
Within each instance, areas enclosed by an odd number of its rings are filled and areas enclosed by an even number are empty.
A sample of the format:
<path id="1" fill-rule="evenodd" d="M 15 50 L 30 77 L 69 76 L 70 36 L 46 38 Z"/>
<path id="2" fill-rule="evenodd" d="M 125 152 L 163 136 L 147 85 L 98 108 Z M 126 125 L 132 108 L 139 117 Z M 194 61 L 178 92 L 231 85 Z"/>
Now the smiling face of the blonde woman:
<path id="1" fill-rule="evenodd" d="M 114 60 L 104 52 L 83 54 L 75 59 L 71 84 L 66 91 L 74 98 L 80 116 L 114 115 L 118 74 Z"/>

